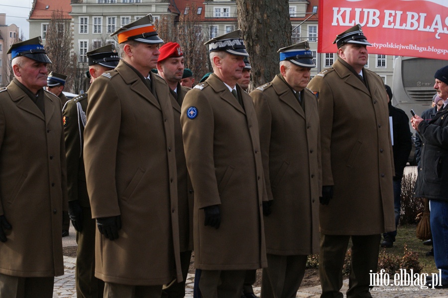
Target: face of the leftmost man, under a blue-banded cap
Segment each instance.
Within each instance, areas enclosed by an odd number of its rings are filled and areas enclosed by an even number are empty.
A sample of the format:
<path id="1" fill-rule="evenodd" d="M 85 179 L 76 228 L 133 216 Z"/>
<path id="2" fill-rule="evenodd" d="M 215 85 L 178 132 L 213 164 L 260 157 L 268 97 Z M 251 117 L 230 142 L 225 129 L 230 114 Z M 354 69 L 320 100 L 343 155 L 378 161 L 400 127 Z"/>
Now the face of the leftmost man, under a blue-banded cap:
<path id="1" fill-rule="evenodd" d="M 25 87 L 36 93 L 47 85 L 47 64 L 23 57 L 21 66 L 14 66 L 14 74 Z"/>

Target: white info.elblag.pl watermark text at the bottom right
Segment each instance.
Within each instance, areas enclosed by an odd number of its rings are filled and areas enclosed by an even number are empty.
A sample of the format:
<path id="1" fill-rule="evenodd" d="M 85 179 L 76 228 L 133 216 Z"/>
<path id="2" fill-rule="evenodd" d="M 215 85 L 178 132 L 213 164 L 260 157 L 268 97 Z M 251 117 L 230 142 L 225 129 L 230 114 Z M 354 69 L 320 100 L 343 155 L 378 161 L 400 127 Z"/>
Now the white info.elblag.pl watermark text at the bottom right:
<path id="1" fill-rule="evenodd" d="M 373 273 L 372 270 L 370 270 L 369 275 L 371 291 L 418 291 L 419 288 L 426 290 L 434 289 L 435 286 L 442 286 L 441 269 L 439 269 L 439 273 L 431 273 L 431 275 L 429 273 L 414 273 L 413 269 L 409 271 L 407 269 L 400 269 L 400 272 L 393 274 L 393 277 L 391 277 L 391 274 L 386 273 L 386 270 L 384 269 L 381 269 L 379 273 Z"/>

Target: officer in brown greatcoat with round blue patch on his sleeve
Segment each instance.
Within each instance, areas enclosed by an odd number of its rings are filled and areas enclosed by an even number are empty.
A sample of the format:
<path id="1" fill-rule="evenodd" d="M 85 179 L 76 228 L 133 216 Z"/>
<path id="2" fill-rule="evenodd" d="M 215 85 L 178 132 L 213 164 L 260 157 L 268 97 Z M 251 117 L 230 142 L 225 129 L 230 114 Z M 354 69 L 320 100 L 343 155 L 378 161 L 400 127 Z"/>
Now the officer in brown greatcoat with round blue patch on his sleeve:
<path id="1" fill-rule="evenodd" d="M 236 81 L 248 56 L 239 30 L 209 40 L 214 73 L 182 104 L 187 168 L 195 190 L 195 266 L 207 298 L 240 298 L 246 270 L 266 266 L 258 124 Z"/>

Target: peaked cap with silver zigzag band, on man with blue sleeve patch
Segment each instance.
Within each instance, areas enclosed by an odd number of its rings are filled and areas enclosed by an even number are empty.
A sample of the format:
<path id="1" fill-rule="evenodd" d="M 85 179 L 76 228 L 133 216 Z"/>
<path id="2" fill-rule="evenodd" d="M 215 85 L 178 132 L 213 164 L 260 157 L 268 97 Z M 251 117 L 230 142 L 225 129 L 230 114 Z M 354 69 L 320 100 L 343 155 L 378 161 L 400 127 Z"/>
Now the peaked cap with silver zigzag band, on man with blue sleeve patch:
<path id="1" fill-rule="evenodd" d="M 241 30 L 237 29 L 224 35 L 212 38 L 204 45 L 209 46 L 209 53 L 224 51 L 235 56 L 249 57 L 249 54 L 247 54 L 246 52 L 246 46 L 244 45 L 243 40 L 239 38 L 240 32 Z"/>

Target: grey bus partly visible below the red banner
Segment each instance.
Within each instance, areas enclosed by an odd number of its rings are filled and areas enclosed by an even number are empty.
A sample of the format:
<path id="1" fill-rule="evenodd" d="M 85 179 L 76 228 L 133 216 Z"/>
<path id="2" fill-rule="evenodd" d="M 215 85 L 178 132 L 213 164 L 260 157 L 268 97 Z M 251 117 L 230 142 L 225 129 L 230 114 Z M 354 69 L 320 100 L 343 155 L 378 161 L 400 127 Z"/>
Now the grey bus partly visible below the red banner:
<path id="1" fill-rule="evenodd" d="M 422 115 L 423 111 L 431 107 L 436 94 L 434 74 L 446 65 L 446 60 L 401 56 L 396 58 L 392 105 L 405 111 L 409 119 L 412 118 L 411 109 L 417 115 Z"/>

